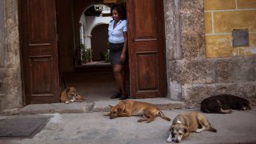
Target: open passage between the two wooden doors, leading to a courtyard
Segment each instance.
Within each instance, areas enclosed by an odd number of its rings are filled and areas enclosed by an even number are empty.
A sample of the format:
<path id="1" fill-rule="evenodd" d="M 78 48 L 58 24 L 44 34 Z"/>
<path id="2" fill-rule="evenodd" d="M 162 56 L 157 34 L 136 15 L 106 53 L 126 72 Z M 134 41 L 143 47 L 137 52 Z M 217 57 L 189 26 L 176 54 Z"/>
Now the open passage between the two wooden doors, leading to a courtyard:
<path id="1" fill-rule="evenodd" d="M 74 14 L 74 41 L 69 41 L 65 34 L 72 18 L 68 18 L 69 6 L 74 6 L 74 10 L 82 6 L 81 12 Z M 58 51 L 60 74 L 62 81 L 61 90 L 66 86 L 74 86 L 77 93 L 86 98 L 85 102 L 96 102 L 110 100 L 110 96 L 115 93 L 115 81 L 112 67 L 108 61 L 108 23 L 112 20 L 110 6 L 102 3 L 83 2 L 77 5 L 70 2 L 57 0 L 58 11 Z M 72 10 L 70 9 L 72 12 Z M 74 12 L 75 13 L 75 12 Z M 78 27 L 76 27 L 78 23 Z M 59 26 L 60 25 L 60 26 Z M 72 30 L 72 29 L 70 29 Z M 70 39 L 71 36 L 69 36 Z M 78 41 L 79 40 L 79 41 Z M 67 46 L 67 43 L 74 42 L 74 46 Z M 70 44 L 71 45 L 71 44 Z M 71 49 L 71 50 L 70 50 Z M 73 49 L 73 50 L 72 50 Z M 66 62 L 68 54 L 74 54 L 74 62 Z M 66 63 L 65 63 L 66 62 Z M 65 66 L 68 65 L 68 66 Z M 72 67 L 73 70 L 70 70 Z M 126 90 L 130 94 L 129 67 L 126 68 Z"/>

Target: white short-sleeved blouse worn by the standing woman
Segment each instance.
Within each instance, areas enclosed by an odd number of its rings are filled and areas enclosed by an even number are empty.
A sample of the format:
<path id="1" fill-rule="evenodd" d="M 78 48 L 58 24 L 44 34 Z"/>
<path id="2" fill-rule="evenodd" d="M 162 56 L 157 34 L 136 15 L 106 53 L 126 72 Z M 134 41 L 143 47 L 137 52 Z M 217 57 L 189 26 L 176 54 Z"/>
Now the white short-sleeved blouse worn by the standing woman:
<path id="1" fill-rule="evenodd" d="M 115 27 L 114 20 L 110 21 L 108 31 L 110 43 L 123 43 L 123 32 L 127 31 L 127 21 L 120 20 Z"/>

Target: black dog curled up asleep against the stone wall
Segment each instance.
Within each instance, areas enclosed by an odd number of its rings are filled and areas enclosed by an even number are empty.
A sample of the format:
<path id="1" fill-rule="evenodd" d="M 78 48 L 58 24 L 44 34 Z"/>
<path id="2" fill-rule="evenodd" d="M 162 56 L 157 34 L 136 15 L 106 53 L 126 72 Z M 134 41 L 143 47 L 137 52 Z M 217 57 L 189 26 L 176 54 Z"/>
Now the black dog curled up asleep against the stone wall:
<path id="1" fill-rule="evenodd" d="M 250 110 L 251 104 L 245 98 L 230 94 L 212 96 L 201 102 L 201 110 L 205 113 L 230 114 L 231 109 Z"/>

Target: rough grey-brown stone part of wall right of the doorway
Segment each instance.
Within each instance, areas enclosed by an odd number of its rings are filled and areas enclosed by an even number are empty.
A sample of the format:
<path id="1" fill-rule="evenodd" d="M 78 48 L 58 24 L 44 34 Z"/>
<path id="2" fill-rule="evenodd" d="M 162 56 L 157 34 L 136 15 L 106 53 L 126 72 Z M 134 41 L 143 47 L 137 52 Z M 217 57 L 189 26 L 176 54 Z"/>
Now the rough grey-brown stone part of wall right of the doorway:
<path id="1" fill-rule="evenodd" d="M 226 50 L 222 49 L 222 45 L 210 45 L 207 42 L 209 27 L 207 24 L 205 25 L 204 8 L 207 2 L 208 4 L 212 2 L 210 5 L 213 6 L 230 6 L 230 1 L 218 1 L 224 2 L 222 5 L 215 5 L 214 2 L 217 1 L 211 0 L 164 1 L 166 3 L 168 97 L 186 102 L 188 107 L 197 107 L 200 106 L 203 98 L 211 95 L 234 94 L 250 99 L 255 105 L 256 58 L 254 54 L 240 53 L 236 57 L 230 55 L 226 58 L 218 55 L 215 58 L 209 57 L 209 53 L 207 53 L 208 49 L 206 48 L 210 46 L 213 50 L 218 49 L 219 54 L 226 53 Z M 206 18 L 206 21 L 208 19 Z M 234 21 L 238 19 L 234 19 Z M 222 23 L 221 19 L 219 21 Z M 248 26 L 253 27 L 252 22 L 248 23 Z M 253 34 L 250 33 L 250 35 Z M 211 41 L 218 42 L 217 39 Z M 180 42 L 180 45 L 177 42 Z M 250 44 L 254 44 L 254 42 L 250 42 Z M 254 46 L 249 47 L 254 49 Z"/>

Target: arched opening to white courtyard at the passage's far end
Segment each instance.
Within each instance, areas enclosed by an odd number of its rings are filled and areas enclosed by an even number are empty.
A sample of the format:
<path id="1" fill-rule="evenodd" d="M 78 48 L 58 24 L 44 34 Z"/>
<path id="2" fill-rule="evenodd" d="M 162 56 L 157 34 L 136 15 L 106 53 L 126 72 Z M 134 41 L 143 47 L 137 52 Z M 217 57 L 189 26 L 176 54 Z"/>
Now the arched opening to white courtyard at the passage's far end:
<path id="1" fill-rule="evenodd" d="M 107 56 L 107 27 L 112 20 L 110 7 L 94 4 L 83 10 L 79 20 L 79 45 L 82 65 L 97 64 Z M 94 43 L 92 43 L 94 42 Z M 89 62 L 89 63 L 88 63 Z"/>

